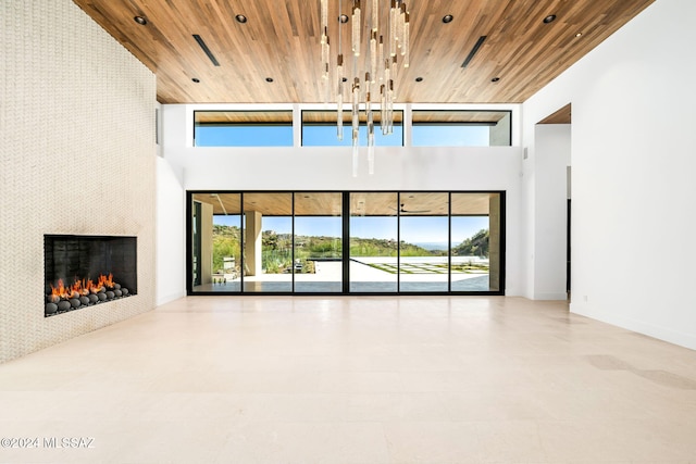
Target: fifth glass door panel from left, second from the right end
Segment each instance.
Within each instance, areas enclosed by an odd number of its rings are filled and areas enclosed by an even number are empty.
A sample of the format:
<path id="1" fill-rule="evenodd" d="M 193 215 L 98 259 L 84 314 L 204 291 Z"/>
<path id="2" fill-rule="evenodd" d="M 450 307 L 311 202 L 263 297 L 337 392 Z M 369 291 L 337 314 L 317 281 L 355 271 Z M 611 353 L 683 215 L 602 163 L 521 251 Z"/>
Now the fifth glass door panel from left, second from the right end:
<path id="1" fill-rule="evenodd" d="M 399 196 L 399 290 L 449 290 L 449 195 Z"/>

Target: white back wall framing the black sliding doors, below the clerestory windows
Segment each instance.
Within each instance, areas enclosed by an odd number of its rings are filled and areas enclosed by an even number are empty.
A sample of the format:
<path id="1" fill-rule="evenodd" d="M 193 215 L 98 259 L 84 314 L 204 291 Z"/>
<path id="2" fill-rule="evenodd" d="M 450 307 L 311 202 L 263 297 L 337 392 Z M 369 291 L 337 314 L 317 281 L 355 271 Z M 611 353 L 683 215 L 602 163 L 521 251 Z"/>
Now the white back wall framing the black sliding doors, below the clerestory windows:
<path id="1" fill-rule="evenodd" d="M 164 158 L 183 171 L 185 190 L 507 191 L 506 292 L 521 294 L 519 147 L 377 148 L 375 174 L 368 175 L 363 152 L 352 177 L 350 148 L 192 148 L 194 109 L 163 109 Z"/>

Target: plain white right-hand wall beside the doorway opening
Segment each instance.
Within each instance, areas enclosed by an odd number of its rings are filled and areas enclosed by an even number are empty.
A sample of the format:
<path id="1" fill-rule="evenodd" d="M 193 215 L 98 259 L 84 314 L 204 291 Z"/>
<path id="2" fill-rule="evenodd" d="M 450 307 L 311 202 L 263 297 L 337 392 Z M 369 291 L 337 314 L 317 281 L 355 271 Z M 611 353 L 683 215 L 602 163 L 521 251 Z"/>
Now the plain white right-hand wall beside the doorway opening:
<path id="1" fill-rule="evenodd" d="M 572 102 L 571 311 L 693 349 L 695 18 L 696 2 L 656 1 L 530 99 L 523 124 L 534 155 L 534 125 Z"/>

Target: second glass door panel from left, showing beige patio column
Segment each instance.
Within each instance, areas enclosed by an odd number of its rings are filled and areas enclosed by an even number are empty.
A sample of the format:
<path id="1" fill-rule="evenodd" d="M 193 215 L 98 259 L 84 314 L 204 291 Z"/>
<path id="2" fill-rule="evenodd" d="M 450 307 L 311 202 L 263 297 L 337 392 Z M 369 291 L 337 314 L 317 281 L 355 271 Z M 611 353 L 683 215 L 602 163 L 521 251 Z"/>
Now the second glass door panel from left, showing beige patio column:
<path id="1" fill-rule="evenodd" d="M 293 193 L 244 196 L 244 291 L 293 291 Z"/>

